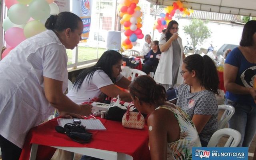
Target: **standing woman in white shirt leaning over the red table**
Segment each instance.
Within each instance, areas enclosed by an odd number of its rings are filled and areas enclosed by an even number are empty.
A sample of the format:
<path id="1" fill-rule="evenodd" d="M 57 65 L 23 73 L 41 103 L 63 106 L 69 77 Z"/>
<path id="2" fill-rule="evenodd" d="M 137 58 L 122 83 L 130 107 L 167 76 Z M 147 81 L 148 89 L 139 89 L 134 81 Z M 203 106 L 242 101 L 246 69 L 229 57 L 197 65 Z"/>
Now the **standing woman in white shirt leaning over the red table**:
<path id="1" fill-rule="evenodd" d="M 55 109 L 61 116 L 81 118 L 91 105 L 78 105 L 65 94 L 67 49 L 81 40 L 83 22 L 76 14 L 51 15 L 46 31 L 16 46 L 0 62 L 0 147 L 3 160 L 18 160 L 28 131 Z M 74 114 L 68 114 L 71 112 Z"/>

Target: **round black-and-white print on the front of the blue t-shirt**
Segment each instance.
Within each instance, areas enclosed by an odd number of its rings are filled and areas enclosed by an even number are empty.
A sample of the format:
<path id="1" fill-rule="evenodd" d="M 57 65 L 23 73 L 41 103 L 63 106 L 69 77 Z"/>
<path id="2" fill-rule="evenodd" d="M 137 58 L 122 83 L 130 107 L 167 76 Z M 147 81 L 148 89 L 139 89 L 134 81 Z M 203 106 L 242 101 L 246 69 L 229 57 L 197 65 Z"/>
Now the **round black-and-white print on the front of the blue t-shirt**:
<path id="1" fill-rule="evenodd" d="M 247 70 L 245 70 L 244 72 L 242 72 L 240 78 L 245 87 L 252 88 L 255 76 L 256 76 L 256 66 L 252 66 Z"/>

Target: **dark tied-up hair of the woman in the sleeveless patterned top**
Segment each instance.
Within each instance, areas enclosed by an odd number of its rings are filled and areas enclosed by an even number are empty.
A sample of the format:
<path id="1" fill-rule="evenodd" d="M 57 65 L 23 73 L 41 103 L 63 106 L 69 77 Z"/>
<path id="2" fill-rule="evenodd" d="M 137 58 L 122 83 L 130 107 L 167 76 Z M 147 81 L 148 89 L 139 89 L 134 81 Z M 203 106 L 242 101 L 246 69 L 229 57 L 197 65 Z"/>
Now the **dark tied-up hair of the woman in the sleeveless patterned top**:
<path id="1" fill-rule="evenodd" d="M 129 86 L 130 94 L 141 102 L 150 104 L 161 104 L 166 101 L 166 90 L 163 86 L 156 84 L 153 78 L 147 75 L 138 76 Z"/>

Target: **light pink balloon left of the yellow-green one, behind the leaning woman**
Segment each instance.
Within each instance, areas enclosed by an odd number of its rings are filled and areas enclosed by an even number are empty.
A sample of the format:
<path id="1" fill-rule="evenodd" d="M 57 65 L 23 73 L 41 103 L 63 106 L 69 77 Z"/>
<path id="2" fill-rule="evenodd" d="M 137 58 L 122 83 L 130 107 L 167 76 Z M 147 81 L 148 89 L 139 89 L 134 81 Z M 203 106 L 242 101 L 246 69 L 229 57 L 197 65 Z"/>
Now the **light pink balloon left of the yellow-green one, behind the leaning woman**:
<path id="1" fill-rule="evenodd" d="M 22 28 L 12 27 L 6 31 L 4 39 L 9 46 L 16 47 L 20 42 L 24 41 L 26 37 L 24 36 Z"/>

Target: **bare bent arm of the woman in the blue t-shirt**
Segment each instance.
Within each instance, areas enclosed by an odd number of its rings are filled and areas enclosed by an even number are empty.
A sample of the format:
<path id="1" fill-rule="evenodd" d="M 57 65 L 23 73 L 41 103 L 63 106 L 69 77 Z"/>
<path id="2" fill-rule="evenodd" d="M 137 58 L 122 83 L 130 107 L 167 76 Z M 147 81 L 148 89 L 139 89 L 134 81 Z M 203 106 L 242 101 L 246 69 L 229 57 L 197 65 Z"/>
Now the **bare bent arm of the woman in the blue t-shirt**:
<path id="1" fill-rule="evenodd" d="M 256 99 L 256 90 L 236 84 L 238 67 L 224 64 L 224 86 L 225 89 L 234 94 L 251 94 Z"/>

